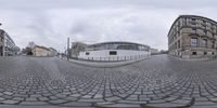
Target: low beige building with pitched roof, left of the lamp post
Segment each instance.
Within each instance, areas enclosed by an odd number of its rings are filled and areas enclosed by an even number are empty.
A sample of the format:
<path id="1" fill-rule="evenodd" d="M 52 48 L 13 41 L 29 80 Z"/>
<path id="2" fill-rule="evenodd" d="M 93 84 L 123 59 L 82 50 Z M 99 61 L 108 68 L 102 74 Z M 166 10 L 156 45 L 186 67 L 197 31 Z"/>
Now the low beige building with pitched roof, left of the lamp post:
<path id="1" fill-rule="evenodd" d="M 35 45 L 31 52 L 34 56 L 53 56 L 52 51 L 46 46 Z"/>

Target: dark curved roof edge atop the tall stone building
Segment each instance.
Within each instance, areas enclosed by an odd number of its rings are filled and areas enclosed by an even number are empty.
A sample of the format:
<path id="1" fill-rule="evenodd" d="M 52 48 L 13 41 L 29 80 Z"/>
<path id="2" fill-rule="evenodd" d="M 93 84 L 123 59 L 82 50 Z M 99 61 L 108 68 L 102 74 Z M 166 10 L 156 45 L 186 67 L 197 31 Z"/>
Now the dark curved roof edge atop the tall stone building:
<path id="1" fill-rule="evenodd" d="M 182 18 L 182 17 L 197 17 L 197 18 L 204 18 L 204 19 L 210 21 L 210 22 L 213 22 L 213 23 L 215 23 L 215 24 L 217 25 L 217 22 L 216 22 L 216 21 L 210 19 L 210 18 L 207 18 L 207 17 L 204 17 L 204 16 L 200 16 L 200 15 L 179 15 L 179 16 L 175 19 L 175 22 L 173 23 L 173 25 L 171 25 L 171 27 L 170 27 L 170 29 L 169 29 L 169 32 L 168 32 L 168 35 L 167 35 L 167 37 L 169 36 L 169 33 L 170 33 L 170 31 L 171 31 L 171 28 L 174 27 L 174 25 L 176 24 L 176 22 L 179 21 L 179 19 Z"/>

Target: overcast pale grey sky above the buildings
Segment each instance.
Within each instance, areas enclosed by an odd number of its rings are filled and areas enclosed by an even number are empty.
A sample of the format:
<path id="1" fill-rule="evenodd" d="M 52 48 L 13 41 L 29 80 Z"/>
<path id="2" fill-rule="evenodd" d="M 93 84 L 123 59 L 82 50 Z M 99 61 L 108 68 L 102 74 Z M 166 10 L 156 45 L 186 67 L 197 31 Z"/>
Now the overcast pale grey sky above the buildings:
<path id="1" fill-rule="evenodd" d="M 66 39 L 130 41 L 167 50 L 167 33 L 183 14 L 217 21 L 216 0 L 0 0 L 0 23 L 24 48 L 29 41 L 63 51 Z"/>

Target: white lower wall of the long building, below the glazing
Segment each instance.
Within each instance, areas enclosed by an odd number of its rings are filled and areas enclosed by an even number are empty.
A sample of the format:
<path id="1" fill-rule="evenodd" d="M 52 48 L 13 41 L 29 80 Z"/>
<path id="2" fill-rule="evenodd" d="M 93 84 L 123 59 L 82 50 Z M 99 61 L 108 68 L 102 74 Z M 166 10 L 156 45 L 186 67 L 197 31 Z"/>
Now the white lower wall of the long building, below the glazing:
<path id="1" fill-rule="evenodd" d="M 110 55 L 110 51 L 116 51 L 117 55 Z M 138 59 L 141 57 L 148 57 L 150 52 L 146 51 L 131 51 L 131 50 L 100 50 L 100 51 L 87 51 L 80 52 L 78 58 L 93 59 L 93 60 L 128 60 Z"/>

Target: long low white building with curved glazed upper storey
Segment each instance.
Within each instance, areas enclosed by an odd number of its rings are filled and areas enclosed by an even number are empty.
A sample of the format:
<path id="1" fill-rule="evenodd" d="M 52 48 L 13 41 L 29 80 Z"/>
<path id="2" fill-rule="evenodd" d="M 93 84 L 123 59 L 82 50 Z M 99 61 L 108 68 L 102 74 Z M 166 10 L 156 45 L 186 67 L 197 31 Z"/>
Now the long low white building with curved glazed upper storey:
<path id="1" fill-rule="evenodd" d="M 129 60 L 148 57 L 150 46 L 132 42 L 103 42 L 88 45 L 78 58 L 90 60 Z"/>

